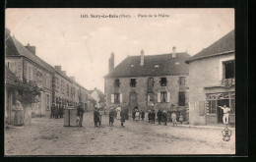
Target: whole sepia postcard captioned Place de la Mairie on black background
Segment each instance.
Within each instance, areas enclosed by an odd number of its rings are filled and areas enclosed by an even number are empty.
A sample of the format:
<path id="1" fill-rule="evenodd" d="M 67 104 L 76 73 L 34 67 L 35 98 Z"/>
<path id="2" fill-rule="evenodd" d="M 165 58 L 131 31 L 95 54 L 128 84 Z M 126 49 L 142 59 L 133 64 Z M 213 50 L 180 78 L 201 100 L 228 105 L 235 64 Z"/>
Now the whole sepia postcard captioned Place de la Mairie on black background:
<path id="1" fill-rule="evenodd" d="M 5 156 L 234 155 L 234 13 L 7 8 Z"/>

